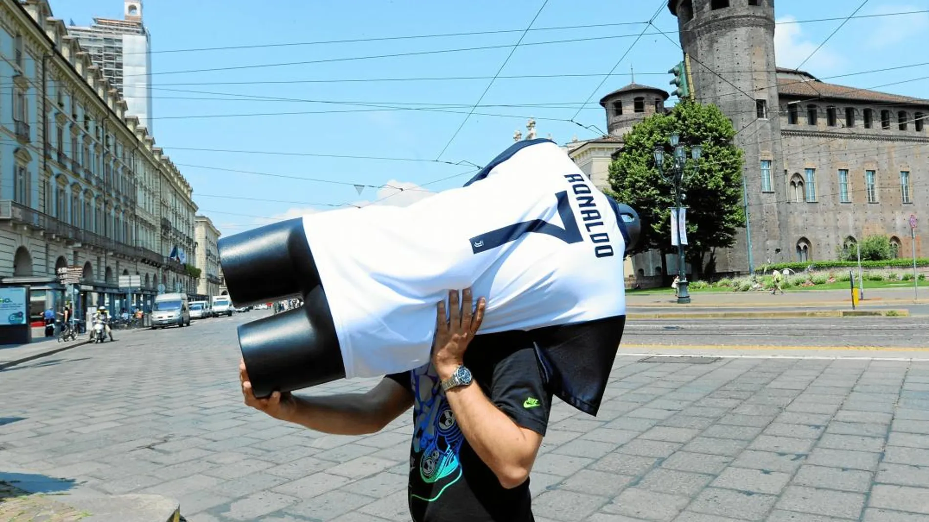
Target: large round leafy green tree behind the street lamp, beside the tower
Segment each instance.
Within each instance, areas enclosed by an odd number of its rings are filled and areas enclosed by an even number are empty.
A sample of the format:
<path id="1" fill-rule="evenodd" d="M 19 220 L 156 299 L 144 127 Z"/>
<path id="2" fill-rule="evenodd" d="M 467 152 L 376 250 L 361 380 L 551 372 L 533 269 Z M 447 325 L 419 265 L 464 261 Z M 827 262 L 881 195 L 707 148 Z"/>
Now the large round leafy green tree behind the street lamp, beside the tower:
<path id="1" fill-rule="evenodd" d="M 612 196 L 633 207 L 643 223 L 632 253 L 659 249 L 664 264 L 664 255 L 675 251 L 671 245 L 674 186 L 661 177 L 652 152 L 655 146 L 667 147 L 674 132 L 681 143 L 703 147 L 696 174 L 689 171 L 694 160 L 687 159 L 682 204 L 687 207 L 687 261 L 700 274 L 710 254 L 706 266 L 713 272 L 715 249 L 732 247 L 738 229 L 745 226 L 742 151 L 732 142 L 732 121 L 719 108 L 683 100 L 668 114 L 636 124 L 609 165 Z"/>

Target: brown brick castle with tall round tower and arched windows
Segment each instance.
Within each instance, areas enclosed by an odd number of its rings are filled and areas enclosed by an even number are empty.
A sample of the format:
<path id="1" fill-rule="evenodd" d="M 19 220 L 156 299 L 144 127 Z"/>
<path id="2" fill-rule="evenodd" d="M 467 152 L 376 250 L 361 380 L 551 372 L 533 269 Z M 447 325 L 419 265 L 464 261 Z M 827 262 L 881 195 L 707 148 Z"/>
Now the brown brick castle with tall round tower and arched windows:
<path id="1" fill-rule="evenodd" d="M 778 68 L 773 0 L 670 0 L 691 89 L 733 121 L 748 226 L 717 270 L 834 260 L 864 236 L 929 256 L 929 100 L 825 83 Z"/>

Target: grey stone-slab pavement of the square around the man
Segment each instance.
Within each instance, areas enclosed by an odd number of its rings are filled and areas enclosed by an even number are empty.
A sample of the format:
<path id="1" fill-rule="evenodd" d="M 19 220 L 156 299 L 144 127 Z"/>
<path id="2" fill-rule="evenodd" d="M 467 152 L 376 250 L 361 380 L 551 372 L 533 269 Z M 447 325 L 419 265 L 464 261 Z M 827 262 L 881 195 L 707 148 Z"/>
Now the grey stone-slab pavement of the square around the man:
<path id="1" fill-rule="evenodd" d="M 234 325 L 259 313 L 0 372 L 0 472 L 169 495 L 191 522 L 409 520 L 410 416 L 340 437 L 242 404 Z M 539 520 L 929 520 L 929 362 L 642 359 L 617 360 L 597 417 L 556 404 Z"/>

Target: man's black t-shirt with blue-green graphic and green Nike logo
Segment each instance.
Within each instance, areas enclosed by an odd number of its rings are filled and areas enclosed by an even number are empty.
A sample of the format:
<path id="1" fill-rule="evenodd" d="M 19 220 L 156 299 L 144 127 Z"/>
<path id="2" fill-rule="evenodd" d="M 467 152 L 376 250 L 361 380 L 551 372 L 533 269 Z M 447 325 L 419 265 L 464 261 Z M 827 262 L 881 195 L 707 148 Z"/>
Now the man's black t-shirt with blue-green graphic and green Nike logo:
<path id="1" fill-rule="evenodd" d="M 494 340 L 492 335 L 476 338 L 464 365 L 504 414 L 544 435 L 552 396 L 545 390 L 536 351 L 506 348 Z M 530 481 L 511 490 L 500 485 L 464 439 L 432 364 L 388 377 L 414 397 L 408 486 L 414 522 L 533 520 Z"/>

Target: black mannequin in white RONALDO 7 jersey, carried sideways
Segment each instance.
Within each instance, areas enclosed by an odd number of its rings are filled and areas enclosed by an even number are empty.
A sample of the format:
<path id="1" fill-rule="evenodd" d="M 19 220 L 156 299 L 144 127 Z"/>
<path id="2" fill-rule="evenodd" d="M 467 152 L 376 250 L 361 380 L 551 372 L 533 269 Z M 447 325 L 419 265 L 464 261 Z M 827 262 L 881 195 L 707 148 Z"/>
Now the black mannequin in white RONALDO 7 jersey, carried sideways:
<path id="1" fill-rule="evenodd" d="M 625 322 L 622 262 L 639 230 L 635 210 L 534 139 L 409 207 L 307 214 L 218 247 L 236 306 L 305 301 L 239 326 L 256 397 L 427 363 L 435 303 L 471 286 L 488 299 L 476 346 L 482 335 L 534 345 L 556 396 L 595 414 Z"/>

